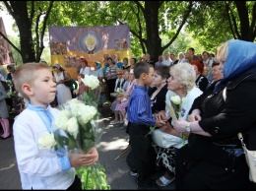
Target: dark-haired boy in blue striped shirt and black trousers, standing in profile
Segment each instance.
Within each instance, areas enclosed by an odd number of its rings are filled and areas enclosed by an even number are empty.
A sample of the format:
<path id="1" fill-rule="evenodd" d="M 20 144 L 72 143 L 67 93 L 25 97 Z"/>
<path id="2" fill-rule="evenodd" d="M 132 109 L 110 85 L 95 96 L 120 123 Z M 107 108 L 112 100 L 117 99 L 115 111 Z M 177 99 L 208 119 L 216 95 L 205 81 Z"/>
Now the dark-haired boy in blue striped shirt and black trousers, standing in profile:
<path id="1" fill-rule="evenodd" d="M 129 98 L 127 106 L 128 133 L 134 154 L 135 167 L 138 170 L 139 189 L 157 189 L 152 180 L 156 167 L 156 153 L 152 147 L 152 138 L 147 136 L 150 126 L 162 126 L 165 121 L 156 120 L 152 115 L 151 100 L 147 87 L 153 82 L 154 67 L 146 62 L 139 62 L 134 67 L 137 85 Z"/>

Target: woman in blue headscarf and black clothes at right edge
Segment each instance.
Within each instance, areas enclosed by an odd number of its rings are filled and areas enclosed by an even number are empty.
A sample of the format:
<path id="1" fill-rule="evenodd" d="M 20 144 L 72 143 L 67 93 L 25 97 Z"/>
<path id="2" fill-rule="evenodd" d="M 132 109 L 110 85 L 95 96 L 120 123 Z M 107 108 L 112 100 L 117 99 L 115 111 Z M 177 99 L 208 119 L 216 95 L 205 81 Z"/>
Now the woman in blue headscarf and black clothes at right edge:
<path id="1" fill-rule="evenodd" d="M 217 58 L 223 80 L 195 99 L 188 121 L 171 122 L 190 132 L 176 156 L 176 190 L 255 190 L 237 133 L 256 150 L 256 43 L 227 40 Z"/>

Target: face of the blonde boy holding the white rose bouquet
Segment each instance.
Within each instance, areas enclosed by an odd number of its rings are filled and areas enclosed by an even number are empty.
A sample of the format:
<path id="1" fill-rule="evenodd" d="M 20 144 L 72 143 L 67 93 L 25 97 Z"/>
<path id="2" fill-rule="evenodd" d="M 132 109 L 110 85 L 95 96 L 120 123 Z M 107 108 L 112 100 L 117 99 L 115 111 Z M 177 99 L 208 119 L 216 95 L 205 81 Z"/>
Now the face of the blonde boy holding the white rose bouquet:
<path id="1" fill-rule="evenodd" d="M 43 105 L 46 108 L 48 103 L 54 100 L 56 91 L 56 83 L 53 82 L 51 71 L 47 69 L 38 70 L 36 78 L 31 85 L 31 103 Z"/>

